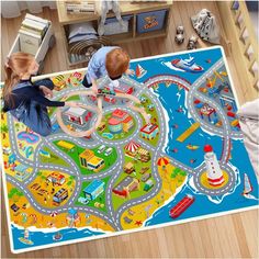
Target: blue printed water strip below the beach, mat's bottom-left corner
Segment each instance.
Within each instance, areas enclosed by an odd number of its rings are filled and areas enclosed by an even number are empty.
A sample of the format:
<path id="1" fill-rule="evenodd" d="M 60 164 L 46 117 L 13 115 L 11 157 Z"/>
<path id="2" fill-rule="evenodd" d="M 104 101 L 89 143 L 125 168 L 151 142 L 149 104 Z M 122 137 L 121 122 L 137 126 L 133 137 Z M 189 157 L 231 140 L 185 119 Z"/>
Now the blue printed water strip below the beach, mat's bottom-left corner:
<path id="1" fill-rule="evenodd" d="M 59 230 L 59 233 L 63 235 L 61 240 L 54 240 L 53 236 L 57 234 L 57 232 L 53 233 L 43 233 L 43 232 L 30 232 L 30 240 L 32 240 L 34 244 L 32 246 L 25 245 L 21 243 L 18 238 L 23 237 L 24 229 L 20 229 L 16 226 L 12 225 L 12 235 L 16 238 L 14 238 L 14 249 L 24 249 L 30 248 L 33 246 L 43 246 L 43 245 L 49 245 L 52 243 L 64 243 L 68 240 L 75 240 L 77 238 L 82 237 L 90 237 L 90 236 L 98 236 L 103 235 L 102 232 L 92 232 L 88 228 L 78 230 L 77 228 L 65 228 Z"/>

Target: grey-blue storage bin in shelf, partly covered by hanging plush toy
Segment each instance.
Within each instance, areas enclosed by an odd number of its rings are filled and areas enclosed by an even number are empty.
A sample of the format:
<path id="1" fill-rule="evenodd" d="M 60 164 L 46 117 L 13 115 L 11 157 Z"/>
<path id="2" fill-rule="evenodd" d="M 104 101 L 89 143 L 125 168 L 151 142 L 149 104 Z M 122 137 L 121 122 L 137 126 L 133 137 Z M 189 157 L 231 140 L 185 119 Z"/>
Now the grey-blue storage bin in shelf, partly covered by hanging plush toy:
<path id="1" fill-rule="evenodd" d="M 122 20 L 124 21 L 124 26 L 117 22 L 116 18 L 109 18 L 104 24 L 104 35 L 114 35 L 120 33 L 127 33 L 128 32 L 128 23 L 133 15 L 124 15 Z"/>

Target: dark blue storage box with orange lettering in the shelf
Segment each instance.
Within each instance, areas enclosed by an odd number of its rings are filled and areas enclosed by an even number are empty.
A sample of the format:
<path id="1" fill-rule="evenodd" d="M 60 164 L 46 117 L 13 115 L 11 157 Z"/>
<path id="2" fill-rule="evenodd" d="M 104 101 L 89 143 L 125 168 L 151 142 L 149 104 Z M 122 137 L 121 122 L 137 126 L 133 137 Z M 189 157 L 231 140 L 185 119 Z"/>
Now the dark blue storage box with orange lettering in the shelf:
<path id="1" fill-rule="evenodd" d="M 158 10 L 137 14 L 137 32 L 153 32 L 161 30 L 165 24 L 167 10 Z"/>

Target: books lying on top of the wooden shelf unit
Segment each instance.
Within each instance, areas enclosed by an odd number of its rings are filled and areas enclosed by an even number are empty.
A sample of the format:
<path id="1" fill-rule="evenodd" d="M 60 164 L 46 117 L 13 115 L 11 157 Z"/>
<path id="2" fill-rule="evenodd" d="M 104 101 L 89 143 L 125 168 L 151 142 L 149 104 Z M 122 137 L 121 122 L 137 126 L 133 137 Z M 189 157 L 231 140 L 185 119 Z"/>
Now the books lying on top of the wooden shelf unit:
<path id="1" fill-rule="evenodd" d="M 81 0 L 66 0 L 66 9 L 68 13 L 87 13 L 93 14 L 95 12 L 94 1 Z"/>

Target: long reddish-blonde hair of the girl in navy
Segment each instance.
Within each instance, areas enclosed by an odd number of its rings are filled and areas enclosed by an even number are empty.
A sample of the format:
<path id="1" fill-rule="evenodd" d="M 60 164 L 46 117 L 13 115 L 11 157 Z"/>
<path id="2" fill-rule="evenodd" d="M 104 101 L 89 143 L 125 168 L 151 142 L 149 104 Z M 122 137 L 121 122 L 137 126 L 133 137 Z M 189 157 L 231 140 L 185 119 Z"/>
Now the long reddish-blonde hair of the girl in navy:
<path id="1" fill-rule="evenodd" d="M 22 76 L 29 71 L 33 60 L 34 57 L 27 53 L 13 53 L 8 58 L 4 65 L 5 81 L 2 95 L 4 102 L 9 105 L 13 104 L 13 86 L 16 85 Z"/>

